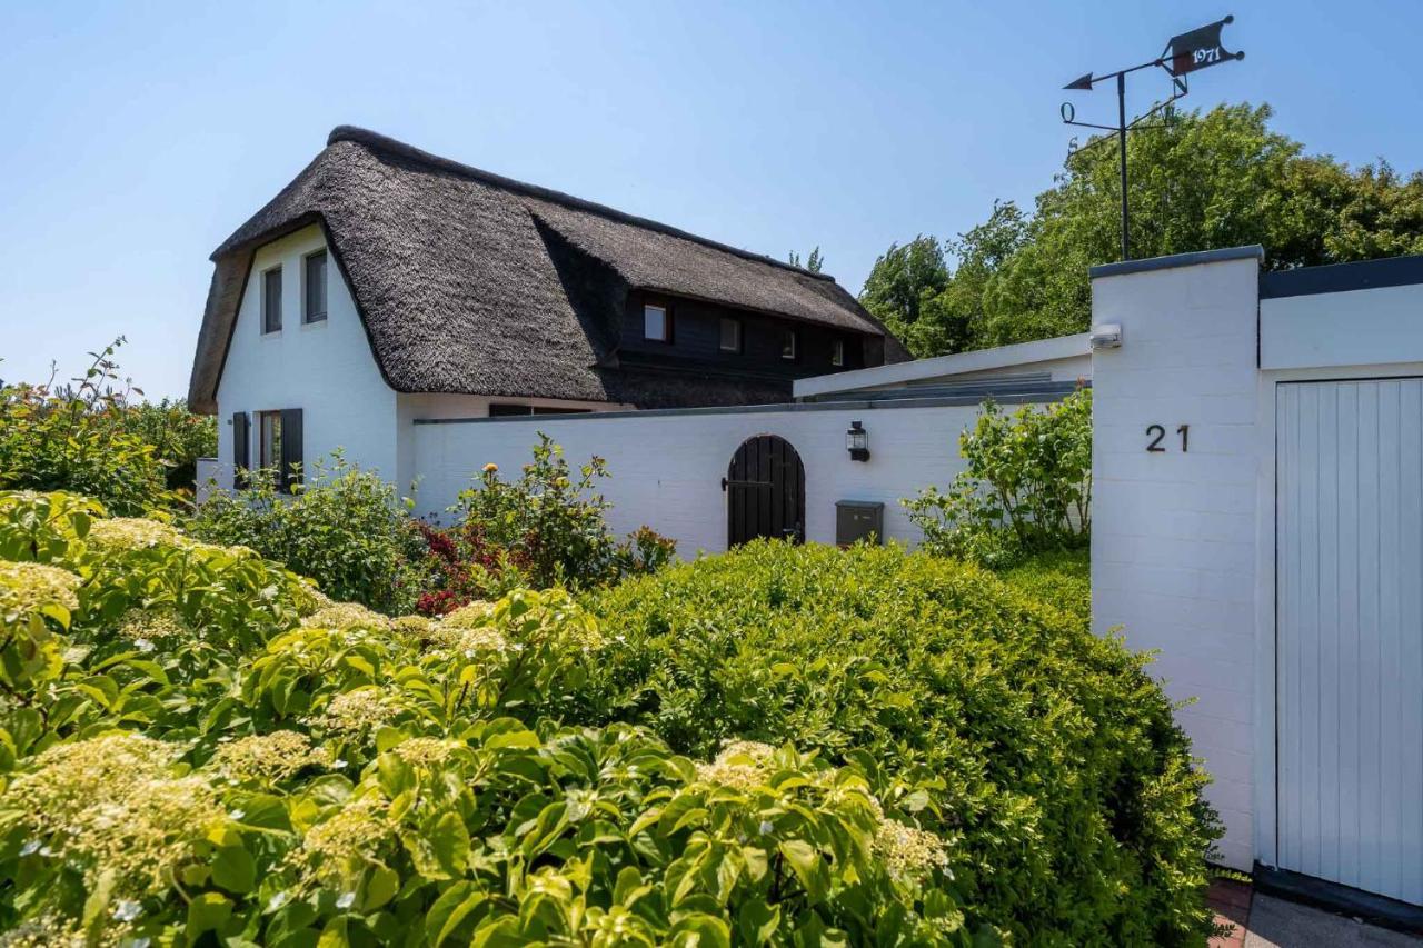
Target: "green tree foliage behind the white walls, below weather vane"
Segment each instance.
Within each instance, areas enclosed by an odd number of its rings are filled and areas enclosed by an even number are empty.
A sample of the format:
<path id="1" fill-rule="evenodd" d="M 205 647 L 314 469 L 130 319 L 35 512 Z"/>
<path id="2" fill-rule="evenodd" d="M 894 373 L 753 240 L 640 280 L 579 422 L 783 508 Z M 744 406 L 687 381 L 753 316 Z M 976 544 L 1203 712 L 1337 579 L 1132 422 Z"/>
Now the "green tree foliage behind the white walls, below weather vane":
<path id="1" fill-rule="evenodd" d="M 1268 105 L 1174 111 L 1128 137 L 1134 258 L 1261 243 L 1268 269 L 1288 269 L 1423 252 L 1423 174 L 1308 155 L 1271 117 Z M 1120 256 L 1117 158 L 1113 139 L 1072 154 L 1032 215 L 996 202 L 942 248 L 953 260 L 942 276 L 929 265 L 939 248 L 916 252 L 918 270 L 891 248 L 861 302 L 916 356 L 1086 330 L 1087 270 Z"/>

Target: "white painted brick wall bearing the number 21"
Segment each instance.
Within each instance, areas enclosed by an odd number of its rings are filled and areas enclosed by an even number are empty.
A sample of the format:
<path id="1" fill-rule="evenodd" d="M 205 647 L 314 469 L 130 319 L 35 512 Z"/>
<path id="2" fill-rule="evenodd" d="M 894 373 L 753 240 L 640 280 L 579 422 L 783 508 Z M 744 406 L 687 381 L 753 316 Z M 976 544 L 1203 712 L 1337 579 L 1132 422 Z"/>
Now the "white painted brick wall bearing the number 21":
<path id="1" fill-rule="evenodd" d="M 1154 673 L 1215 779 L 1221 860 L 1254 858 L 1258 262 L 1099 278 L 1093 323 L 1093 623 L 1160 649 Z M 1147 453 L 1147 426 L 1165 428 Z M 1181 453 L 1177 426 L 1190 426 Z"/>

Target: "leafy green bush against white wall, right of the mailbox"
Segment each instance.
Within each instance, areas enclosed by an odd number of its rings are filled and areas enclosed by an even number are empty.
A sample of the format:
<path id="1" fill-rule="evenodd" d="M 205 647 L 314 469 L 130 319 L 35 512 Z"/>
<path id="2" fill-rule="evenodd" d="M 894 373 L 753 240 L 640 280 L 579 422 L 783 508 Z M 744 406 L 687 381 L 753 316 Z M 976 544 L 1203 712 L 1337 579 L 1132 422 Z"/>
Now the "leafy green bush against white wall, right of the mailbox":
<path id="1" fill-rule="evenodd" d="M 999 567 L 1081 547 L 1091 530 L 1091 390 L 1013 414 L 989 401 L 959 436 L 968 468 L 948 493 L 902 501 L 928 549 Z"/>

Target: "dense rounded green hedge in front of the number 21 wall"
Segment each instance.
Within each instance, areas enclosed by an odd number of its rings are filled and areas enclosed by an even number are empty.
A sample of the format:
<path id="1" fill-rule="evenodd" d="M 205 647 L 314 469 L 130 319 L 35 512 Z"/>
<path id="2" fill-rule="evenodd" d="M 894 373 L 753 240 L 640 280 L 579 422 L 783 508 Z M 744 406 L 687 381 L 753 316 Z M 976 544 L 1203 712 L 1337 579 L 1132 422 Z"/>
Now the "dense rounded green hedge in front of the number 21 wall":
<path id="1" fill-rule="evenodd" d="M 1026 575 L 1026 574 L 1025 574 Z M 970 921 L 1043 944 L 1200 944 L 1204 777 L 1146 659 L 975 567 L 758 542 L 596 596 L 581 713 L 709 754 L 878 762 L 951 840 Z"/>

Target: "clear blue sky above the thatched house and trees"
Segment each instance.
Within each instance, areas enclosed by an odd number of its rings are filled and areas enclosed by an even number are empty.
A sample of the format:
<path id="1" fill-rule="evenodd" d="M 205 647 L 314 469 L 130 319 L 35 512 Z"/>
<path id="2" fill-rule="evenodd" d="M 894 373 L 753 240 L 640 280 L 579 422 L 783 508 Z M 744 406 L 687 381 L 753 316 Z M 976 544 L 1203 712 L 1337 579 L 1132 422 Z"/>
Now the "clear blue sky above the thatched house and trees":
<path id="1" fill-rule="evenodd" d="M 343 122 L 758 252 L 818 243 L 858 292 L 892 241 L 1050 184 L 1059 102 L 1114 108 L 1064 83 L 1225 13 L 1248 56 L 1185 104 L 1268 101 L 1311 151 L 1423 165 L 1417 3 L 0 0 L 0 377 L 122 333 L 135 383 L 185 393 L 208 255 Z"/>

